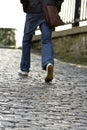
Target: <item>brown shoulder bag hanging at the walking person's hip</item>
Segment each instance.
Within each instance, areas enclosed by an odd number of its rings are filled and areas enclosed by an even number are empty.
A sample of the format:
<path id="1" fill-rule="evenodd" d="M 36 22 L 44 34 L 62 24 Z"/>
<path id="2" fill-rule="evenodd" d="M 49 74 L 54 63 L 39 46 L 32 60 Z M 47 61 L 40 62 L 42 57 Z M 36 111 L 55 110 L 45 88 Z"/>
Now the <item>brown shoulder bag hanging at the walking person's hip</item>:
<path id="1" fill-rule="evenodd" d="M 55 5 L 55 3 L 48 4 L 47 1 L 40 0 L 42 7 L 43 7 L 43 13 L 46 20 L 46 23 L 50 27 L 56 27 L 59 25 L 64 25 L 64 22 L 61 20 L 59 14 L 58 14 L 58 7 Z"/>

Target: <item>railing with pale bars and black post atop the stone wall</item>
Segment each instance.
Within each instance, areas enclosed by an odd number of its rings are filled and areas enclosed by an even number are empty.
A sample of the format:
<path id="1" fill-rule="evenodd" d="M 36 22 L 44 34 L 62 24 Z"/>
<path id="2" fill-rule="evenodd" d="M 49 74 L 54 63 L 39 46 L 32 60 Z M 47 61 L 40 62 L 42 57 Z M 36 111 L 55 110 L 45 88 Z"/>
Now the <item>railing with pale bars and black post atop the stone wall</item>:
<path id="1" fill-rule="evenodd" d="M 60 16 L 65 24 L 78 26 L 79 22 L 87 20 L 87 0 L 64 0 Z"/>

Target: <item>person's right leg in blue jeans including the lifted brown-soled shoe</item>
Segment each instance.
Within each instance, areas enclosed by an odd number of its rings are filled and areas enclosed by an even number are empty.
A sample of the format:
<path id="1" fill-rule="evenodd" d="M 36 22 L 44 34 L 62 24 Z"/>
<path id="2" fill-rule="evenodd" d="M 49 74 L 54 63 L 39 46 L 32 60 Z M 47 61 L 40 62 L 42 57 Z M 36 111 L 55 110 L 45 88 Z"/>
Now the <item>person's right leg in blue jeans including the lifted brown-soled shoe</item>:
<path id="1" fill-rule="evenodd" d="M 42 68 L 47 70 L 46 82 L 53 79 L 54 50 L 52 43 L 52 29 L 46 23 L 40 26 L 42 32 Z"/>

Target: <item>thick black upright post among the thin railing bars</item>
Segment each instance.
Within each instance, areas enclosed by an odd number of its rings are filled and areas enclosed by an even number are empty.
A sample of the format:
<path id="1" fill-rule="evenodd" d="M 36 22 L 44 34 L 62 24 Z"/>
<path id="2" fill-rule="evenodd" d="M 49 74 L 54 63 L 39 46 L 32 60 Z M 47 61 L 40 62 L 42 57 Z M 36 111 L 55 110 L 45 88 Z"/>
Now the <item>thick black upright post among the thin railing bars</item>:
<path id="1" fill-rule="evenodd" d="M 81 10 L 81 0 L 76 0 L 76 3 L 75 3 L 74 23 L 72 24 L 73 27 L 79 26 L 80 10 Z"/>

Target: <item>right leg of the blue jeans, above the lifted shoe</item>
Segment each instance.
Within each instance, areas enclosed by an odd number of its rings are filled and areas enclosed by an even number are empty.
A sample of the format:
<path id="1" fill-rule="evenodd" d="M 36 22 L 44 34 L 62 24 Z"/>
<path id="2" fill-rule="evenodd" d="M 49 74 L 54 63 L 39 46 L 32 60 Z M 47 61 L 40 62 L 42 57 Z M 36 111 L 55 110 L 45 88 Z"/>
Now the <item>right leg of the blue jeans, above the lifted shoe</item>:
<path id="1" fill-rule="evenodd" d="M 45 69 L 49 63 L 54 65 L 54 50 L 51 37 L 52 30 L 45 22 L 41 24 L 40 29 L 42 32 L 42 68 Z"/>

